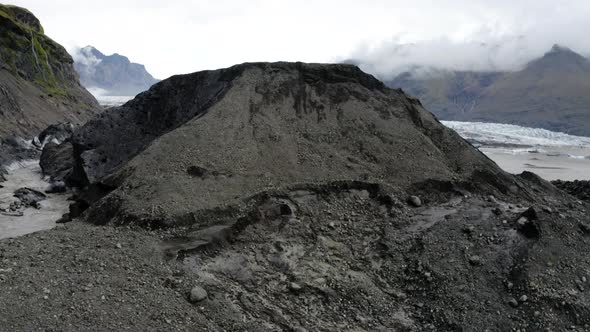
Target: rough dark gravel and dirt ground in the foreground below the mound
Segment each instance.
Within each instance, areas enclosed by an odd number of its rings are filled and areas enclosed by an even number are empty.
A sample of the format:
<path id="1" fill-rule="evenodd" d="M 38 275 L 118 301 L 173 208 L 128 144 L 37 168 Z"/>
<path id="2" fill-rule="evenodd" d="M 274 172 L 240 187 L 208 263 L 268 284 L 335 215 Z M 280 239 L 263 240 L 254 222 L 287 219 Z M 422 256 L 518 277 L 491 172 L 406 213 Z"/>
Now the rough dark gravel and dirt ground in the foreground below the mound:
<path id="1" fill-rule="evenodd" d="M 224 226 L 149 231 L 73 222 L 0 241 L 0 326 L 588 328 L 590 261 L 579 255 L 590 250 L 588 205 L 563 198 L 519 222 L 529 206 L 493 197 L 430 192 L 415 208 L 373 186 L 317 189 L 268 195 L 256 212 Z M 196 286 L 206 298 L 191 303 Z"/>

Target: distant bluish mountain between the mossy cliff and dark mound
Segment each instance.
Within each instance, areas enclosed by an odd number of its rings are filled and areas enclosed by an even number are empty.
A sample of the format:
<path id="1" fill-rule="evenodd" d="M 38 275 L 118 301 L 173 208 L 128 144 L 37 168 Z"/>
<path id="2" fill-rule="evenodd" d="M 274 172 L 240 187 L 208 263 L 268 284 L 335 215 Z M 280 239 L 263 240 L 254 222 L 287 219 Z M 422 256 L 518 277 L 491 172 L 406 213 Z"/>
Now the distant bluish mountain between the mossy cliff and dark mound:
<path id="1" fill-rule="evenodd" d="M 144 65 L 117 53 L 104 55 L 92 46 L 80 49 L 74 60 L 80 82 L 95 95 L 135 96 L 159 82 Z"/>

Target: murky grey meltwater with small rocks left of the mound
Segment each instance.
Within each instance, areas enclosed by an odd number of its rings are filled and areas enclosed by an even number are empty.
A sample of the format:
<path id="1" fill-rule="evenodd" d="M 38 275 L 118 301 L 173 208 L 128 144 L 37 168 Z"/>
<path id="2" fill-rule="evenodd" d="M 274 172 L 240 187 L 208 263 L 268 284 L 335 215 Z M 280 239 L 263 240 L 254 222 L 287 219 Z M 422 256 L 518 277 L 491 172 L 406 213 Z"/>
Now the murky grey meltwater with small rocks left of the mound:
<path id="1" fill-rule="evenodd" d="M 0 206 L 10 204 L 15 190 L 23 187 L 44 192 L 49 183 L 41 175 L 36 160 L 14 163 L 7 167 L 6 182 L 0 183 Z M 47 194 L 40 202 L 40 208 L 26 208 L 22 216 L 8 216 L 0 213 L 0 239 L 22 236 L 56 226 L 55 221 L 68 211 L 68 194 Z"/>

